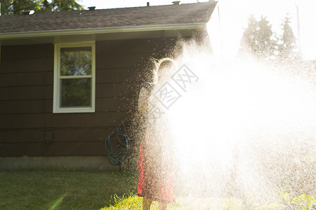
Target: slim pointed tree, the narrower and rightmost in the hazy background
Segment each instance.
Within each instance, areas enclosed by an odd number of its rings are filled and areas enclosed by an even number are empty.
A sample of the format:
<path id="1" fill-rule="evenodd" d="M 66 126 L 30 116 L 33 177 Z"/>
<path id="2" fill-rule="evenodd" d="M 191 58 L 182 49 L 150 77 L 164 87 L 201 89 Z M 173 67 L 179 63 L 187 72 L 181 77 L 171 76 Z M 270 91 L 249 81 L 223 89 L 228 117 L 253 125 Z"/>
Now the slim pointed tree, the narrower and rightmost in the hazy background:
<path id="1" fill-rule="evenodd" d="M 279 38 L 279 59 L 297 59 L 298 48 L 296 45 L 296 38 L 290 26 L 291 18 L 289 14 L 284 18 L 282 22 L 282 35 Z"/>

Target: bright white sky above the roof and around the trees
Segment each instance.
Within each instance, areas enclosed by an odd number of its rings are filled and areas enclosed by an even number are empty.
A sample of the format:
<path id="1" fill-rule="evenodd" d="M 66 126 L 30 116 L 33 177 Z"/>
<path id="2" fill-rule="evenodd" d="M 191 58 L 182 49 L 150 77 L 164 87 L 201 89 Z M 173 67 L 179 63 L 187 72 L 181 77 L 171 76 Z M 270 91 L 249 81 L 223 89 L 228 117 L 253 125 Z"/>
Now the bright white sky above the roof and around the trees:
<path id="1" fill-rule="evenodd" d="M 172 4 L 173 0 L 78 0 L 88 8 L 123 8 L 134 6 L 150 6 Z M 204 2 L 206 0 L 198 0 Z M 197 0 L 182 0 L 180 3 L 197 3 Z M 272 24 L 272 30 L 277 34 L 281 31 L 281 23 L 289 13 L 291 27 L 298 38 L 298 21 L 300 37 L 298 40 L 304 59 L 316 59 L 316 1 L 315 0 L 218 0 L 218 10 L 212 15 L 208 24 L 209 36 L 216 55 L 220 57 L 235 57 L 240 38 L 252 14 L 257 20 L 261 15 L 266 16 Z M 298 8 L 298 13 L 297 13 Z M 218 15 L 219 14 L 219 15 Z M 297 15 L 299 14 L 299 15 Z M 220 18 L 219 18 L 220 17 Z"/>

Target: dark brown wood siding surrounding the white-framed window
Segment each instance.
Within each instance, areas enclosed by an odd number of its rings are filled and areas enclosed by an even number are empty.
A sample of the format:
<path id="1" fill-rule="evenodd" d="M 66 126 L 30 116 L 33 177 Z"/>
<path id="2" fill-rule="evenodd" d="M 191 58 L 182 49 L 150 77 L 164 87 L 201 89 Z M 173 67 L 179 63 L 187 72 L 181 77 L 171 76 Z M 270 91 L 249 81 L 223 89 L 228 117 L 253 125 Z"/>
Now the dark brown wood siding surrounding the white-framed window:
<path id="1" fill-rule="evenodd" d="M 96 113 L 53 113 L 53 44 L 1 46 L 0 156 L 105 155 L 107 135 L 136 109 L 150 57 L 175 45 L 173 38 L 97 41 Z"/>

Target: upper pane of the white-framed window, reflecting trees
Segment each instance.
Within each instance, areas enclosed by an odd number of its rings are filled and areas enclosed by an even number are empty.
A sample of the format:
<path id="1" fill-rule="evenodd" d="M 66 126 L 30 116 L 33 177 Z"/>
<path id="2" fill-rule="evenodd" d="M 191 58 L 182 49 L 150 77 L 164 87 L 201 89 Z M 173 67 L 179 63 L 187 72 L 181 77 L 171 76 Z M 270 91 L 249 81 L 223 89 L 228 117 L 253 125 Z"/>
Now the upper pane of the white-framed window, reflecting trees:
<path id="1" fill-rule="evenodd" d="M 91 47 L 60 48 L 60 75 L 91 75 Z"/>

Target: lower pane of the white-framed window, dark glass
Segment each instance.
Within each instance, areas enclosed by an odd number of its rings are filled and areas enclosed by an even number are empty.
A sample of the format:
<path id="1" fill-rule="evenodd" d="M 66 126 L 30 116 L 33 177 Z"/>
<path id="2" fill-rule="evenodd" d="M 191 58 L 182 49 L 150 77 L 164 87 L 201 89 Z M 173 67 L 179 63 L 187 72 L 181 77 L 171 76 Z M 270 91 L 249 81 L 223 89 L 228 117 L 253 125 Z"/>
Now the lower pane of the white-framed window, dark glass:
<path id="1" fill-rule="evenodd" d="M 91 106 L 91 78 L 60 80 L 60 107 Z"/>

